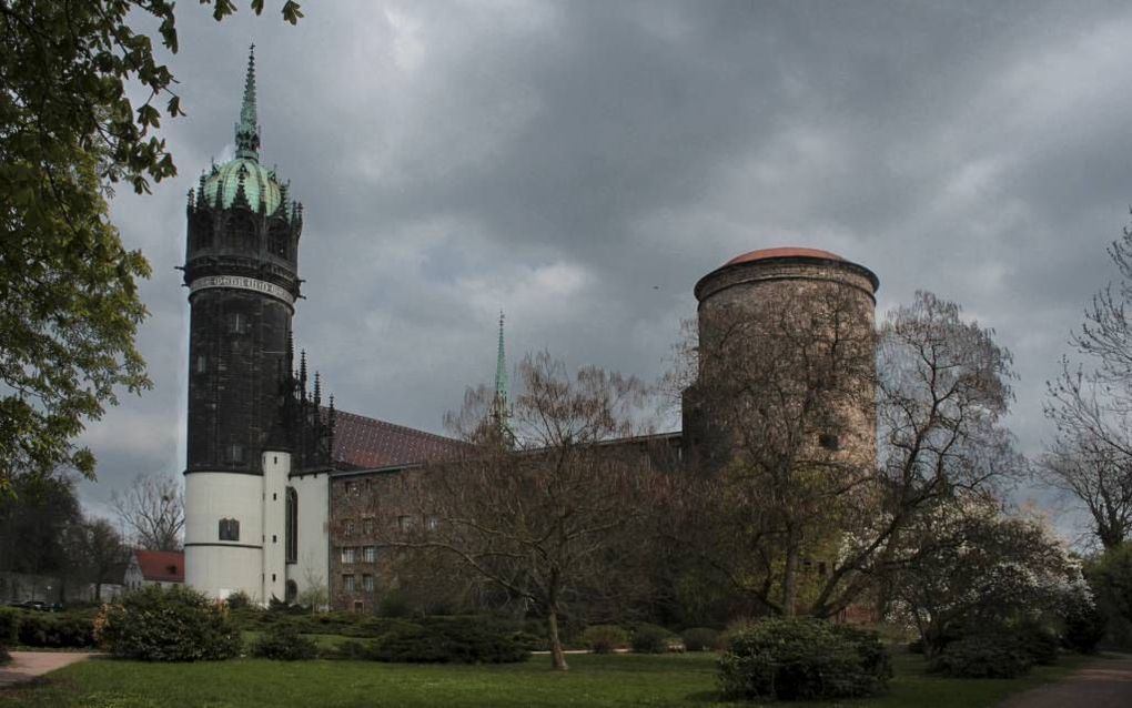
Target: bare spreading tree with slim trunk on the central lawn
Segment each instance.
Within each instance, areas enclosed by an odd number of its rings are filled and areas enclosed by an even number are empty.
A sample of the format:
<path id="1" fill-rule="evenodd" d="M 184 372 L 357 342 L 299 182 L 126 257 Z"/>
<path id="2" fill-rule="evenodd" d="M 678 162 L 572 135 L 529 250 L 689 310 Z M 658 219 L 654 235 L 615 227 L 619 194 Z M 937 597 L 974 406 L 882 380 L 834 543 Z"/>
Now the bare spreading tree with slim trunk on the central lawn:
<path id="1" fill-rule="evenodd" d="M 462 459 L 403 474 L 360 501 L 381 545 L 439 549 L 546 613 L 552 667 L 565 671 L 559 619 L 581 587 L 618 571 L 614 549 L 648 512 L 652 475 L 635 378 L 585 368 L 569 376 L 548 355 L 518 367 L 508 416 L 494 391 L 469 391 L 449 423 L 471 444 Z"/>

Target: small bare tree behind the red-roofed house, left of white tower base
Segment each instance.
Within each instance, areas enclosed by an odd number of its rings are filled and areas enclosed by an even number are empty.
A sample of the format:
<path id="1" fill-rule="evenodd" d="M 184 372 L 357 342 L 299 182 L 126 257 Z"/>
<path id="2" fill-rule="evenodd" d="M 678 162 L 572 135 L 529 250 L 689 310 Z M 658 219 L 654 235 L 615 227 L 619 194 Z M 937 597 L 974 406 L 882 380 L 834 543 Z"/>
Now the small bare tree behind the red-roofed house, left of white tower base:
<path id="1" fill-rule="evenodd" d="M 149 551 L 179 551 L 185 528 L 185 492 L 173 475 L 138 475 L 110 505 L 128 529 L 132 543 Z"/>

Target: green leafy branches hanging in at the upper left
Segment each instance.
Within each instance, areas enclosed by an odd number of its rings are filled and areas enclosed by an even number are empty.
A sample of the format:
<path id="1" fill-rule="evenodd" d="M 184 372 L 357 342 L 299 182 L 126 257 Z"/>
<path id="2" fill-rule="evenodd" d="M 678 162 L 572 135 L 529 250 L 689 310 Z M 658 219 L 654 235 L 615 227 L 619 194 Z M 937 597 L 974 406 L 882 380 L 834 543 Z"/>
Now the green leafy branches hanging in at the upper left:
<path id="1" fill-rule="evenodd" d="M 216 19 L 237 9 L 203 3 Z M 293 1 L 282 14 L 302 16 Z M 117 182 L 145 193 L 177 173 L 155 103 L 183 112 L 153 40 L 134 28 L 144 18 L 175 53 L 173 2 L 0 0 L 0 491 L 17 471 L 58 464 L 93 477 L 93 455 L 71 441 L 118 389 L 151 385 L 134 343 L 149 265 L 122 246 L 106 205 Z M 128 84 L 148 89 L 140 105 Z"/>

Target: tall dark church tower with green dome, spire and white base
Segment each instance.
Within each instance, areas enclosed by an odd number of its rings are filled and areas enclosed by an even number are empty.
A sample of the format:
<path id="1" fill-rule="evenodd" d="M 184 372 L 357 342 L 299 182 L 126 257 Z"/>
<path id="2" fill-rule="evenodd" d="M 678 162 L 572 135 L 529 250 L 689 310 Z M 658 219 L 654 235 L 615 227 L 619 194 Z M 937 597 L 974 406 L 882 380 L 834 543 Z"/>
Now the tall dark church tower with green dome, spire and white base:
<path id="1" fill-rule="evenodd" d="M 302 445 L 290 404 L 302 207 L 288 191 L 259 161 L 252 53 L 235 157 L 188 197 L 186 581 L 213 597 L 284 597 L 286 485 Z"/>

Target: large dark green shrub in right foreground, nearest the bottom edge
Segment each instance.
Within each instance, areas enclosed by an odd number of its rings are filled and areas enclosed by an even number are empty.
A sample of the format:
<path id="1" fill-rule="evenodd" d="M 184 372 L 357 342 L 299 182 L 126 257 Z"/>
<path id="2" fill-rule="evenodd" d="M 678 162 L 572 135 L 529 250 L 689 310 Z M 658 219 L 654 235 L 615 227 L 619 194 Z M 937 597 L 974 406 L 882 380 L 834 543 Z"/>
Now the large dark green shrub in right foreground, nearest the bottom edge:
<path id="1" fill-rule="evenodd" d="M 811 617 L 769 619 L 736 631 L 719 667 L 729 698 L 869 696 L 892 677 L 876 634 Z"/>

